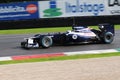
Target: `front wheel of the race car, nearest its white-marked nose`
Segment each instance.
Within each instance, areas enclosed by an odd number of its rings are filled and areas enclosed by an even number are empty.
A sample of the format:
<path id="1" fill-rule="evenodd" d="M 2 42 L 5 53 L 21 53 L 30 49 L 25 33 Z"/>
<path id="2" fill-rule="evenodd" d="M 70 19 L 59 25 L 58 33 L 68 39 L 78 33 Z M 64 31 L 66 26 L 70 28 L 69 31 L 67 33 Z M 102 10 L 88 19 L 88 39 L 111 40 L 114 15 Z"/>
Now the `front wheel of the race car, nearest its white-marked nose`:
<path id="1" fill-rule="evenodd" d="M 43 47 L 43 48 L 49 48 L 50 46 L 52 46 L 53 44 L 53 40 L 51 37 L 49 36 L 43 36 L 41 39 L 40 39 L 40 45 Z"/>

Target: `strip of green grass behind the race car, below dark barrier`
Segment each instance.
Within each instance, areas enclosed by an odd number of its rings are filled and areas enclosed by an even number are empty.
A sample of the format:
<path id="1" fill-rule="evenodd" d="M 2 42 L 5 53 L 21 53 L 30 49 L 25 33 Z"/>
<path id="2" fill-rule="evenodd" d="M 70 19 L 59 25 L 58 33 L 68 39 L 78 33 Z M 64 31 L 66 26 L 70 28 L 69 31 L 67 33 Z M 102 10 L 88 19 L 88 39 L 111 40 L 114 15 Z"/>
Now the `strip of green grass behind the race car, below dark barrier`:
<path id="1" fill-rule="evenodd" d="M 97 29 L 98 27 L 92 26 Z M 32 28 L 32 29 L 13 29 L 0 30 L 0 34 L 36 34 L 36 33 L 50 33 L 50 32 L 65 32 L 71 30 L 71 27 L 56 27 L 56 28 Z M 115 25 L 116 30 L 120 30 L 120 25 Z"/>

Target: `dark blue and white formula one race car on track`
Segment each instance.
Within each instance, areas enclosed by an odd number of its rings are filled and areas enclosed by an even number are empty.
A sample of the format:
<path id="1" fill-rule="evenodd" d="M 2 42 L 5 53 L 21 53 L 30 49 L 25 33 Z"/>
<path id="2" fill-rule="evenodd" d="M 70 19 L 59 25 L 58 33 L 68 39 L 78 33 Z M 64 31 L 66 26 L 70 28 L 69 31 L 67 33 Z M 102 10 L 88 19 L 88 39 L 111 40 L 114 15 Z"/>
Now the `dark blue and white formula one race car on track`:
<path id="1" fill-rule="evenodd" d="M 99 24 L 98 28 L 73 26 L 72 30 L 64 33 L 36 34 L 34 37 L 25 38 L 25 41 L 21 42 L 21 47 L 30 49 L 36 47 L 49 48 L 53 44 L 112 43 L 115 36 L 114 25 Z"/>

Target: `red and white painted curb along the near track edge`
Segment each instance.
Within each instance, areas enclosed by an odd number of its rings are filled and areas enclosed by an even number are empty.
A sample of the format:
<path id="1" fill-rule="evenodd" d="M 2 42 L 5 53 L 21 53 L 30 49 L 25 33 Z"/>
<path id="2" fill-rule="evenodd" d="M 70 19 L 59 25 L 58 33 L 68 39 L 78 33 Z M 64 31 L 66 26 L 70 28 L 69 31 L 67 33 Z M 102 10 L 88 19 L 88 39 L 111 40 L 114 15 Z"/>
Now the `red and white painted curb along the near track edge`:
<path id="1" fill-rule="evenodd" d="M 35 54 L 35 55 L 7 56 L 7 57 L 0 57 L 0 61 L 25 60 L 25 59 L 32 59 L 32 58 L 50 58 L 50 57 L 70 56 L 70 55 L 77 55 L 77 54 L 101 54 L 101 53 L 110 53 L 110 52 L 120 52 L 120 48 L 106 49 L 106 50 L 90 50 L 90 51 L 49 53 L 49 54 L 44 53 L 44 54 Z"/>

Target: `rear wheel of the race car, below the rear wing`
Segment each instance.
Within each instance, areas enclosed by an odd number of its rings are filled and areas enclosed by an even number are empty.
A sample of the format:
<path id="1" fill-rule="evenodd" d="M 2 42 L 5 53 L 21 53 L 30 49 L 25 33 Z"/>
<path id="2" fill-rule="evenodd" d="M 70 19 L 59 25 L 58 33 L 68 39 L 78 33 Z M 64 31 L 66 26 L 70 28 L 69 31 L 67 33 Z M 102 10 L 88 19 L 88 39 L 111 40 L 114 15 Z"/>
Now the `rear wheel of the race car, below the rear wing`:
<path id="1" fill-rule="evenodd" d="M 114 40 L 114 35 L 113 35 L 113 33 L 111 33 L 111 32 L 106 32 L 106 33 L 104 34 L 103 41 L 104 41 L 105 44 L 110 44 L 110 43 L 113 42 L 113 40 Z"/>

